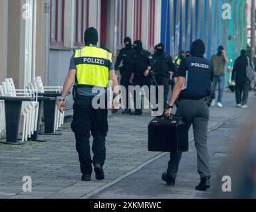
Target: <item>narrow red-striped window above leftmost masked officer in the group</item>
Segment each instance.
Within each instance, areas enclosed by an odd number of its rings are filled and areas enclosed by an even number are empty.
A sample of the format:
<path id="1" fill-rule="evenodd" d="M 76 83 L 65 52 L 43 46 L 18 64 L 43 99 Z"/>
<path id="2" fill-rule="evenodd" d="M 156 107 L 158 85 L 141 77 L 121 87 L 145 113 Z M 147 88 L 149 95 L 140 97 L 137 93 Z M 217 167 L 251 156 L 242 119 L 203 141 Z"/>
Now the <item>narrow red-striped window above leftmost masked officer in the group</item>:
<path id="1" fill-rule="evenodd" d="M 127 36 L 127 0 L 118 1 L 118 30 L 117 30 L 117 44 L 118 49 L 124 45 L 124 38 Z"/>

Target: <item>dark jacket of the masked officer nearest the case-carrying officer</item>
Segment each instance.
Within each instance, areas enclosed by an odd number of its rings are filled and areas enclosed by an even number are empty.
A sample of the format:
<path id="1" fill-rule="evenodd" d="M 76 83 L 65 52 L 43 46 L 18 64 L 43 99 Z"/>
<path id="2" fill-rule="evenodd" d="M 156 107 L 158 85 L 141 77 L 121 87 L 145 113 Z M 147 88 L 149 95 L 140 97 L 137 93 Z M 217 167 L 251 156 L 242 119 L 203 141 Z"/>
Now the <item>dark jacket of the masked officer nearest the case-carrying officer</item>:
<path id="1" fill-rule="evenodd" d="M 170 72 L 177 72 L 176 66 L 170 55 L 166 53 L 161 55 L 153 54 L 153 58 L 154 61 L 151 62 L 151 66 L 155 70 L 157 77 L 170 78 Z"/>

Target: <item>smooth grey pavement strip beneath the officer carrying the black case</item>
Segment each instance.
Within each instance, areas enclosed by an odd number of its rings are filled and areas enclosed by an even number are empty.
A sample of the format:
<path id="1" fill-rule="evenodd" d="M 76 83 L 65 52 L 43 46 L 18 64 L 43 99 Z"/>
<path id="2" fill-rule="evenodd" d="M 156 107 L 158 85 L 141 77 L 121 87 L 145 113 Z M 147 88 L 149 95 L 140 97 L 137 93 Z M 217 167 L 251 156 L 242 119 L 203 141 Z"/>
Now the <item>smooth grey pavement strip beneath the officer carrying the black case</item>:
<path id="1" fill-rule="evenodd" d="M 229 156 L 232 144 L 237 141 L 241 126 L 245 121 L 243 115 L 227 121 L 216 131 L 208 134 L 208 148 L 210 155 L 211 189 L 196 191 L 199 183 L 197 173 L 196 150 L 194 140 L 190 142 L 190 151 L 185 152 L 180 162 L 180 170 L 176 178 L 176 186 L 168 186 L 161 176 L 166 171 L 170 155 L 166 154 L 154 162 L 144 166 L 138 172 L 124 180 L 92 195 L 91 199 L 205 199 L 213 197 L 213 190 L 217 184 L 217 176 L 223 167 L 223 160 Z M 222 185 L 221 182 L 219 182 Z M 219 185 L 218 184 L 218 185 Z M 214 189 L 213 189 L 214 188 Z"/>

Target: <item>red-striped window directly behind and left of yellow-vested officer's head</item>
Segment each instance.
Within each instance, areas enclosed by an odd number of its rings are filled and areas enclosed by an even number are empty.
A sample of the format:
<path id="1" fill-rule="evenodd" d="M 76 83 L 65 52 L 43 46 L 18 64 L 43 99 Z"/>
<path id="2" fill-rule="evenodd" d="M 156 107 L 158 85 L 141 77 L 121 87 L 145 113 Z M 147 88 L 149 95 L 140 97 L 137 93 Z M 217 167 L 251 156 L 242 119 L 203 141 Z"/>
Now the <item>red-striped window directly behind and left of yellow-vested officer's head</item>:
<path id="1" fill-rule="evenodd" d="M 74 46 L 84 44 L 84 31 L 88 28 L 88 0 L 75 0 L 74 3 Z"/>

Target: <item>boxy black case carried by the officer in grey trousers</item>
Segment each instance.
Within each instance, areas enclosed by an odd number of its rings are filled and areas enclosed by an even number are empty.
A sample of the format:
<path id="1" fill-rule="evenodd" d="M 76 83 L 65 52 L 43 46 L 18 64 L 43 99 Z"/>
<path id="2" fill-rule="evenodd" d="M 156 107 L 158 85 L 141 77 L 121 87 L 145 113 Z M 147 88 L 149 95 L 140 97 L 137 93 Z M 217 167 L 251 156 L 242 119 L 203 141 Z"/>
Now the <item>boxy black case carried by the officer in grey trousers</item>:
<path id="1" fill-rule="evenodd" d="M 188 152 L 188 123 L 182 116 L 156 117 L 148 125 L 150 152 Z"/>

